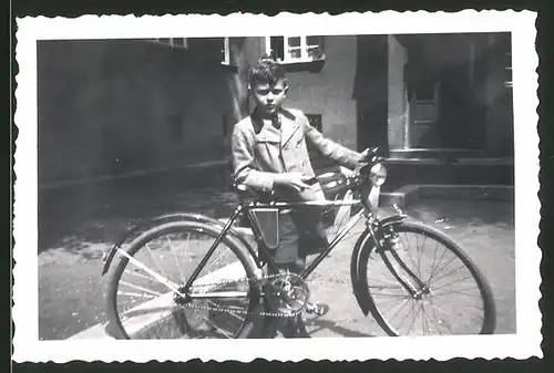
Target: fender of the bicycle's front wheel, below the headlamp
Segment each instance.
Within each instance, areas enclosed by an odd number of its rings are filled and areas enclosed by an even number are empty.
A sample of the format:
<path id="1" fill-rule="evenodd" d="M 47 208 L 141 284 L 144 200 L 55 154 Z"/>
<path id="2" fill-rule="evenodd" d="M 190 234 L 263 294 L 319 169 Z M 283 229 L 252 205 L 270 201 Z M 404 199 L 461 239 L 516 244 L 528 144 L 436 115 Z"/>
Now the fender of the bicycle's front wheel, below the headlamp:
<path id="1" fill-rule="evenodd" d="M 392 216 L 381 220 L 381 225 L 383 227 L 388 227 L 391 225 L 400 225 L 403 222 L 403 220 L 404 218 L 402 216 Z M 362 255 L 366 253 L 368 250 L 371 250 L 373 248 L 373 245 L 375 244 L 372 241 L 371 234 L 369 229 L 366 229 L 356 241 L 356 245 L 352 250 L 352 257 L 350 260 L 350 279 L 352 283 L 353 294 L 356 297 L 358 305 L 361 309 L 361 312 L 366 317 L 369 314 L 371 300 L 369 299 L 369 293 L 367 289 L 362 288 L 360 278 L 360 267 L 361 267 Z"/>

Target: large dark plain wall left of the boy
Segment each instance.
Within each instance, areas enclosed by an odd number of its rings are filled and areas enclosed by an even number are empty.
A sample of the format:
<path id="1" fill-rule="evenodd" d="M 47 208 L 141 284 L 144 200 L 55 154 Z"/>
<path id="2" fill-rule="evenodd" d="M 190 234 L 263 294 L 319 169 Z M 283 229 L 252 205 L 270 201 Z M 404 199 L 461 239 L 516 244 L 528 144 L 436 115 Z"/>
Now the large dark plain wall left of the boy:
<path id="1" fill-rule="evenodd" d="M 233 75 L 146 41 L 40 42 L 39 183 L 223 158 Z"/>

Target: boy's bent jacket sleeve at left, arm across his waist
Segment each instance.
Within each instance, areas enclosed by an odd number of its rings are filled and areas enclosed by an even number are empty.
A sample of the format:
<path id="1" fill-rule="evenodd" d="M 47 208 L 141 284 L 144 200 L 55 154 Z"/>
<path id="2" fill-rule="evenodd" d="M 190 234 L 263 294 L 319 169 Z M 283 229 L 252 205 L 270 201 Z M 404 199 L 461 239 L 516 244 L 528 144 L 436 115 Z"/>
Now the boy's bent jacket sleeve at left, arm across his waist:
<path id="1" fill-rule="evenodd" d="M 256 191 L 270 193 L 274 189 L 276 174 L 256 169 L 253 146 L 239 126 L 235 126 L 233 131 L 230 148 L 235 183 L 244 184 Z"/>

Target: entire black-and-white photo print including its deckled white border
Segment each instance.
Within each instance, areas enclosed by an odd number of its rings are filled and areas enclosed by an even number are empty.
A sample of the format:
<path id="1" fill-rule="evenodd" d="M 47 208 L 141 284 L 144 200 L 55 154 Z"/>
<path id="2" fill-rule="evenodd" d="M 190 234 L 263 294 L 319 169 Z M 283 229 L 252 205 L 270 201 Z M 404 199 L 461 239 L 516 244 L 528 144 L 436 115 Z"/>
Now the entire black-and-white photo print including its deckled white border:
<path id="1" fill-rule="evenodd" d="M 16 354 L 540 355 L 534 15 L 493 13 L 24 20 Z"/>

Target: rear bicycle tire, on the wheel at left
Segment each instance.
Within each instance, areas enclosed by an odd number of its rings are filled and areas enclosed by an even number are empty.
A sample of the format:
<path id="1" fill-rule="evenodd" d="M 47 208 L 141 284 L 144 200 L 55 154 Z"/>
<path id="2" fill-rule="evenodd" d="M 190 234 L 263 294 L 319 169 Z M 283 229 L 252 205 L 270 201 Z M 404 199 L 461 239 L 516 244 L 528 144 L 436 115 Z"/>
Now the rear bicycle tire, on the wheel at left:
<path id="1" fill-rule="evenodd" d="M 138 252 L 141 248 L 144 247 L 145 244 L 152 241 L 153 239 L 164 234 L 174 231 L 187 231 L 187 230 L 195 232 L 201 231 L 202 234 L 207 234 L 214 239 L 217 238 L 220 234 L 220 227 L 215 227 L 208 224 L 189 221 L 189 220 L 166 222 L 157 227 L 154 227 L 152 229 L 148 229 L 142 235 L 140 235 L 129 245 L 126 252 L 130 256 L 134 256 L 136 252 Z M 222 242 L 225 244 L 226 247 L 229 248 L 233 251 L 233 253 L 237 257 L 238 261 L 243 266 L 248 278 L 253 278 L 255 276 L 255 269 L 256 269 L 254 259 L 249 255 L 245 253 L 245 250 L 240 248 L 239 244 L 237 244 L 230 237 L 224 237 Z M 107 293 L 106 293 L 106 310 L 107 310 L 109 322 L 111 325 L 113 325 L 113 328 L 115 328 L 115 330 L 113 331 L 114 334 L 113 336 L 116 339 L 132 339 L 125 331 L 125 328 L 123 327 L 120 318 L 120 312 L 117 310 L 119 283 L 127 263 L 129 259 L 126 257 L 122 257 L 120 259 L 114 269 L 113 274 L 110 278 Z M 252 311 L 259 305 L 259 297 L 257 296 L 258 290 L 253 288 L 252 284 L 249 284 L 249 290 L 250 290 L 249 292 L 254 294 L 253 297 L 249 297 L 248 300 L 248 310 Z M 252 290 L 254 290 L 254 292 Z M 233 335 L 233 338 L 234 339 L 248 338 L 254 328 L 253 322 L 254 321 L 250 319 L 250 317 L 246 317 L 243 325 Z"/>

